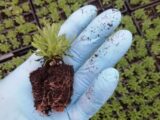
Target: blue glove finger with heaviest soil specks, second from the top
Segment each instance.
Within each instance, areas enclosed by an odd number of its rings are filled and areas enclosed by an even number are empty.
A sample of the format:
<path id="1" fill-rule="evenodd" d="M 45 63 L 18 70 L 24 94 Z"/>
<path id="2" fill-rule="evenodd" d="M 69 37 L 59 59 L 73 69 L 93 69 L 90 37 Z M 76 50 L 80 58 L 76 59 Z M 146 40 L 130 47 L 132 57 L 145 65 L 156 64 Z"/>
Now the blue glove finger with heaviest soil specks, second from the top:
<path id="1" fill-rule="evenodd" d="M 121 13 L 109 9 L 96 17 L 72 43 L 64 61 L 74 66 L 75 71 L 91 56 L 119 25 Z"/>

